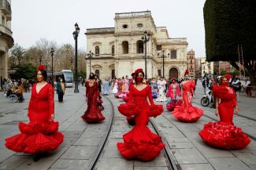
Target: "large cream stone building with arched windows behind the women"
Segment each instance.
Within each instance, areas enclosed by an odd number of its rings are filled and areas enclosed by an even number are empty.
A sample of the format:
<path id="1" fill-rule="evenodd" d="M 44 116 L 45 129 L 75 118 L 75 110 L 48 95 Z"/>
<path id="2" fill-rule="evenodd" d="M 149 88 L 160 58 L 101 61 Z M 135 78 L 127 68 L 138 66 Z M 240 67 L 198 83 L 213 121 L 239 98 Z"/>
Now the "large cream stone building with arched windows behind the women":
<path id="1" fill-rule="evenodd" d="M 150 33 L 147 45 L 147 77 L 163 74 L 162 54 L 165 54 L 165 78 L 183 78 L 187 69 L 187 38 L 170 38 L 166 27 L 156 27 L 150 11 L 116 13 L 114 27 L 87 29 L 87 73 L 100 78 L 121 78 L 137 68 L 145 70 L 144 31 Z M 88 75 L 88 74 L 87 74 Z"/>

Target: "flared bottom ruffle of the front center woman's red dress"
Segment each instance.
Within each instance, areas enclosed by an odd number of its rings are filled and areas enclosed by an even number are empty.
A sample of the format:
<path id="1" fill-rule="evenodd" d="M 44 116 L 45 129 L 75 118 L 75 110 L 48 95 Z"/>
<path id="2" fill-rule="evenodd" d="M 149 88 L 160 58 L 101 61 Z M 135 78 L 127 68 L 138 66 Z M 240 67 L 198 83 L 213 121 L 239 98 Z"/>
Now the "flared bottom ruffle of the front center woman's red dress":
<path id="1" fill-rule="evenodd" d="M 147 126 L 133 128 L 124 134 L 123 139 L 124 143 L 117 143 L 117 149 L 127 159 L 151 161 L 165 147 L 161 143 L 161 136 L 150 132 Z"/>

